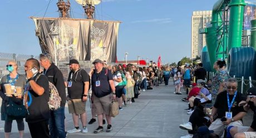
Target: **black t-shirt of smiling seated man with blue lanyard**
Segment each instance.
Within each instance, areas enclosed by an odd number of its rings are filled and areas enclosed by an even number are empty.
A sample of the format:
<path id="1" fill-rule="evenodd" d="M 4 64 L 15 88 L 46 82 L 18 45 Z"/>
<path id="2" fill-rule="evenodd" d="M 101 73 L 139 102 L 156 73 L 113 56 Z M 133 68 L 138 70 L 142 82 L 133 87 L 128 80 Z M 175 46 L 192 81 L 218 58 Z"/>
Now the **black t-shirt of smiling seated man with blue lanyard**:
<path id="1" fill-rule="evenodd" d="M 227 98 L 227 91 L 223 91 L 221 92 L 218 96 L 217 99 L 214 103 L 214 107 L 217 108 L 217 118 L 221 118 L 223 116 L 225 116 L 226 111 L 228 111 L 228 98 Z M 229 102 L 231 103 L 233 100 L 234 95 L 229 95 Z M 240 103 L 240 101 L 242 100 L 246 100 L 246 97 L 237 92 L 237 96 L 235 97 L 235 101 L 232 105 L 232 108 L 230 111 L 232 111 L 232 117 L 234 117 L 235 115 L 237 115 L 240 112 L 246 112 L 243 108 L 243 106 L 238 106 L 238 104 Z"/>

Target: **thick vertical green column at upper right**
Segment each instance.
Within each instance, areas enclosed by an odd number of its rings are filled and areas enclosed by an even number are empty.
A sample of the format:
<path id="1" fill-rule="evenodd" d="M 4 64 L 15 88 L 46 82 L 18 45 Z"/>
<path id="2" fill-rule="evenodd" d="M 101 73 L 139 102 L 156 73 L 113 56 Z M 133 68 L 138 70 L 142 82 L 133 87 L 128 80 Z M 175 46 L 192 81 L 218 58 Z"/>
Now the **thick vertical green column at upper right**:
<path id="1" fill-rule="evenodd" d="M 231 0 L 229 3 L 230 16 L 227 53 L 229 53 L 230 49 L 232 48 L 241 47 L 244 6 L 244 0 Z"/>

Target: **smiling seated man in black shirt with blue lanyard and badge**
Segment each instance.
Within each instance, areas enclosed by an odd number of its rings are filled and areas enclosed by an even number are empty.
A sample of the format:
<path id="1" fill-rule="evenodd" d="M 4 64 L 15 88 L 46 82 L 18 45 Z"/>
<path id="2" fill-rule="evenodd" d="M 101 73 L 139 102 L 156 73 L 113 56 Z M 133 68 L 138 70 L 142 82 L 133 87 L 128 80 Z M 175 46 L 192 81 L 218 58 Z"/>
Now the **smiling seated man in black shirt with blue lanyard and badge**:
<path id="1" fill-rule="evenodd" d="M 225 127 L 243 126 L 242 118 L 246 114 L 243 106 L 238 106 L 240 101 L 245 100 L 243 94 L 237 91 L 237 80 L 230 78 L 227 81 L 227 91 L 221 92 L 211 110 L 210 121 L 212 124 L 209 130 L 213 130 L 212 137 L 218 135 L 221 137 Z M 216 120 L 214 121 L 214 117 Z"/>

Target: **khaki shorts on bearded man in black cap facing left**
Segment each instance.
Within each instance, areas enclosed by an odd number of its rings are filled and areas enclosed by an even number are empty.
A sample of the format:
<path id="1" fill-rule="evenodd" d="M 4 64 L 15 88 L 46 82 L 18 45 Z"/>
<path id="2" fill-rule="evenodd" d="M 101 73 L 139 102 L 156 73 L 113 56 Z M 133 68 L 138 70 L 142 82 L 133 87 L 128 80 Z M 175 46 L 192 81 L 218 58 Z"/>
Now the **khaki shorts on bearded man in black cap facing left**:
<path id="1" fill-rule="evenodd" d="M 70 114 L 75 113 L 76 115 L 81 115 L 85 113 L 86 101 L 82 99 L 72 99 L 67 102 L 68 112 Z"/>

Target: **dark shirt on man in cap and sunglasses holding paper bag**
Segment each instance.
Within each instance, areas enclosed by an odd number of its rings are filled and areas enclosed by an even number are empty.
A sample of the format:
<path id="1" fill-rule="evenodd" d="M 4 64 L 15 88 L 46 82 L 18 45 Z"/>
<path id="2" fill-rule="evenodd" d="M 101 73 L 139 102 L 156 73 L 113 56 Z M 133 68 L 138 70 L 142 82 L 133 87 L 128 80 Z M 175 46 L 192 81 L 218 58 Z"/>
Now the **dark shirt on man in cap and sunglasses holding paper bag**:
<path id="1" fill-rule="evenodd" d="M 100 73 L 96 73 L 95 70 L 91 79 L 92 92 L 97 98 L 111 94 L 109 80 L 113 80 L 113 76 L 110 70 L 103 68 Z M 100 80 L 100 86 L 96 86 L 97 80 Z"/>

